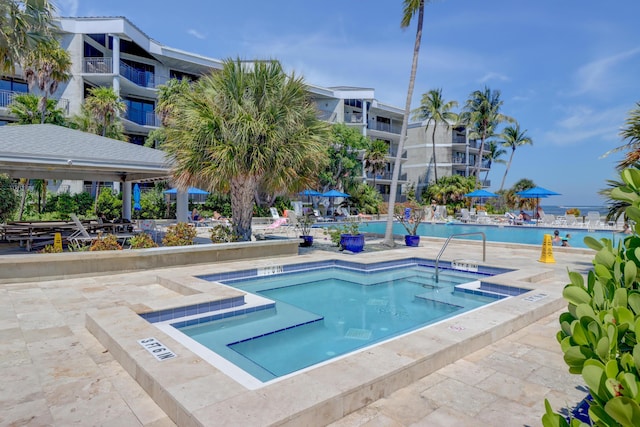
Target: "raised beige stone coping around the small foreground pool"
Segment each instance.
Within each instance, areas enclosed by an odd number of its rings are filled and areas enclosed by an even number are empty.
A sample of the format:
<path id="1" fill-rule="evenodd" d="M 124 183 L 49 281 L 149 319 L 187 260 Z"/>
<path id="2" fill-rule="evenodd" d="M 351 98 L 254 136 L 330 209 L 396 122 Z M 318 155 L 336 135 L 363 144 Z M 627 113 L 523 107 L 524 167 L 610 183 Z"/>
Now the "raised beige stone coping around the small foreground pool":
<path id="1" fill-rule="evenodd" d="M 390 258 L 407 255 L 385 255 Z M 375 260 L 369 254 L 358 262 Z M 296 264 L 300 259 L 281 258 L 278 263 Z M 268 266 L 269 262 L 256 264 Z M 93 310 L 87 312 L 85 323 L 178 425 L 208 425 L 212 419 L 220 425 L 324 425 L 557 311 L 565 302 L 561 288 L 549 286 L 553 276 L 551 269 L 539 266 L 494 276 L 487 282 L 534 292 L 497 301 L 256 390 L 241 386 L 139 316 L 242 294 L 239 291 L 193 276 L 159 275 L 158 283 L 183 296 L 148 302 L 135 311 L 124 306 Z M 177 357 L 155 360 L 138 343 L 147 337 L 156 338 Z"/>

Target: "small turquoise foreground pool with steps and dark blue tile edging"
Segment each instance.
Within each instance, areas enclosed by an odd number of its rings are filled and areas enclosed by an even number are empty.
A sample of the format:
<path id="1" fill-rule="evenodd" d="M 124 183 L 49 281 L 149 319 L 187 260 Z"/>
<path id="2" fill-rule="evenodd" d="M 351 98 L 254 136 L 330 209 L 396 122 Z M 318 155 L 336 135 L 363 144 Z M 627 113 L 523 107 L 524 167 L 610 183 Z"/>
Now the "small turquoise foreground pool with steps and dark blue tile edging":
<path id="1" fill-rule="evenodd" d="M 483 283 L 508 270 L 455 263 L 445 263 L 435 283 L 433 262 L 416 258 L 281 267 L 201 277 L 248 292 L 226 310 L 143 317 L 266 382 L 527 291 Z"/>

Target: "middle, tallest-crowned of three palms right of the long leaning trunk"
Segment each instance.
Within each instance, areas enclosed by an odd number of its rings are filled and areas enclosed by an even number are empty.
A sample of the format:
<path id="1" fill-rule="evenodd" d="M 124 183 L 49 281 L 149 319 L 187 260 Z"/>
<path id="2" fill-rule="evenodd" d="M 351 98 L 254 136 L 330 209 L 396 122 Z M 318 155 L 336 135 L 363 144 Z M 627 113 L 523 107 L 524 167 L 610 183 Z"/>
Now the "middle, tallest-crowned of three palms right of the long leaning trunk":
<path id="1" fill-rule="evenodd" d="M 480 139 L 480 152 L 474 168 L 474 175 L 478 178 L 479 184 L 485 141 L 495 135 L 496 128 L 500 123 L 513 121 L 511 117 L 500 113 L 503 103 L 499 90 L 492 91 L 485 87 L 484 90 L 476 90 L 469 95 L 461 114 L 462 123 L 470 128 L 469 137 Z"/>

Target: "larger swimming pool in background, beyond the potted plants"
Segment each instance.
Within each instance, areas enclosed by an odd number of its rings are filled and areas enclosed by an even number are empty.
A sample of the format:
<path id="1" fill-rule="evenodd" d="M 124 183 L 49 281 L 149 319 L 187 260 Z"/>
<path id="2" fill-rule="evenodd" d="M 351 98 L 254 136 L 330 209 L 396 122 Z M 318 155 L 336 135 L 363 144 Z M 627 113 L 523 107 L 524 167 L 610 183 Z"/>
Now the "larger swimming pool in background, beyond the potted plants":
<path id="1" fill-rule="evenodd" d="M 363 223 L 364 224 L 364 223 Z M 331 226 L 330 224 L 326 224 Z M 384 221 L 372 221 L 367 222 L 366 225 L 360 227 L 360 231 L 363 233 L 375 233 L 384 234 L 386 229 L 386 222 Z M 574 248 L 586 248 L 584 244 L 584 238 L 586 236 L 592 236 L 596 239 L 607 238 L 614 241 L 614 245 L 621 238 L 626 237 L 622 233 L 617 233 L 613 230 L 596 230 L 589 231 L 587 229 L 580 228 L 549 228 L 541 226 L 510 226 L 510 225 L 493 225 L 493 224 L 462 224 L 462 223 L 422 223 L 418 227 L 418 234 L 420 236 L 428 237 L 442 237 L 448 238 L 452 234 L 459 233 L 472 233 L 482 231 L 487 236 L 487 241 L 490 242 L 505 242 L 505 243 L 524 243 L 528 245 L 542 245 L 545 234 L 553 235 L 553 230 L 558 229 L 562 236 L 567 233 L 571 234 L 569 243 Z M 406 230 L 402 224 L 393 224 L 393 233 L 404 235 Z M 461 239 L 481 240 L 482 237 L 478 235 L 473 236 L 460 236 Z"/>

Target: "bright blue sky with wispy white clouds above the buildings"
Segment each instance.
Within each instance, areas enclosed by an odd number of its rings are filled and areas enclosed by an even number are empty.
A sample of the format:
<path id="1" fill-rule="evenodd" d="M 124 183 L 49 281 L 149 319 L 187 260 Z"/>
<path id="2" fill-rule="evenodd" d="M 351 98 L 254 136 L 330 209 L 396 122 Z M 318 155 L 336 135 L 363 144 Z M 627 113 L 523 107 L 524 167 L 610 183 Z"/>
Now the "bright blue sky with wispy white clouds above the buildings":
<path id="1" fill-rule="evenodd" d="M 226 59 L 275 58 L 320 86 L 375 89 L 404 107 L 415 22 L 401 0 L 58 0 L 62 16 L 125 16 L 158 42 Z M 425 10 L 412 107 L 442 88 L 463 105 L 485 86 L 533 146 L 518 148 L 508 188 L 521 178 L 561 193 L 550 205 L 602 204 L 616 179 L 624 121 L 640 101 L 640 2 L 436 0 Z M 505 160 L 508 159 L 508 154 Z M 489 174 L 498 190 L 505 168 Z"/>

